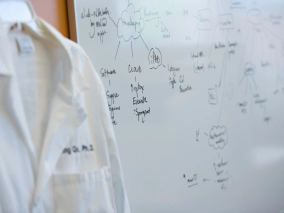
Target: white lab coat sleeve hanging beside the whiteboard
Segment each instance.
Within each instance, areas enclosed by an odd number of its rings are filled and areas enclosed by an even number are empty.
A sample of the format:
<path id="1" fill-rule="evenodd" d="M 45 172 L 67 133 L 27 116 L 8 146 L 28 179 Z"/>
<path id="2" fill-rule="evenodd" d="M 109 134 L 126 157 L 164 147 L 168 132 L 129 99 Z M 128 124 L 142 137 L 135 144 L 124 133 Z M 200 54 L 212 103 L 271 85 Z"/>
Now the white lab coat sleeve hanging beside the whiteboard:
<path id="1" fill-rule="evenodd" d="M 112 175 L 113 196 L 117 213 L 130 213 L 128 199 L 124 187 L 122 168 L 120 164 L 118 149 L 116 145 L 113 126 L 110 121 L 105 91 L 102 84 L 99 85 L 100 116 L 109 154 L 110 170 Z"/>

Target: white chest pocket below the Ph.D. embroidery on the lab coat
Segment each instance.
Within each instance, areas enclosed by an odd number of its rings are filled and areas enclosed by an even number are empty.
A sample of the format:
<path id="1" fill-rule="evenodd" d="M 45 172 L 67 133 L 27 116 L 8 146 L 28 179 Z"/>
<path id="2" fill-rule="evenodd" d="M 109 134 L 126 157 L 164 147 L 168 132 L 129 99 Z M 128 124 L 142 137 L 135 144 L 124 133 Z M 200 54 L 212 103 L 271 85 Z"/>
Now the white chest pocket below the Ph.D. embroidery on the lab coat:
<path id="1" fill-rule="evenodd" d="M 55 212 L 115 212 L 109 167 L 52 178 Z"/>

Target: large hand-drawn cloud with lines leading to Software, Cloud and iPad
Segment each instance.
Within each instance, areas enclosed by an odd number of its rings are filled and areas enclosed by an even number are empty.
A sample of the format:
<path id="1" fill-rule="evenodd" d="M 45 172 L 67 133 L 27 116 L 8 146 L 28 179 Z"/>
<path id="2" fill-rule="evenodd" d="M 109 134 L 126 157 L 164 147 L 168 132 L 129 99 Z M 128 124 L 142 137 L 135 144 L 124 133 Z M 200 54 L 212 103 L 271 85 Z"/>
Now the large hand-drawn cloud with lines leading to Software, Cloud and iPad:
<path id="1" fill-rule="evenodd" d="M 135 11 L 134 5 L 130 3 L 118 19 L 117 35 L 128 41 L 131 37 L 133 39 L 138 38 L 143 29 L 144 19 L 141 18 L 141 13 Z"/>

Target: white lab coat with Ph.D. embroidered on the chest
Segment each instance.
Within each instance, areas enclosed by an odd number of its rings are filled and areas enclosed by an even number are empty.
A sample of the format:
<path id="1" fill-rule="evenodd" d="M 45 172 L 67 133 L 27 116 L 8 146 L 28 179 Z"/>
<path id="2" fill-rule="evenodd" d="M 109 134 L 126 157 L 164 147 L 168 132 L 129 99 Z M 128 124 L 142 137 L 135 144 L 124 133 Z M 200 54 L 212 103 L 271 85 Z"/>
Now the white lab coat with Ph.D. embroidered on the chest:
<path id="1" fill-rule="evenodd" d="M 56 43 L 64 65 L 55 70 L 36 151 L 8 28 L 0 27 L 0 212 L 130 212 L 104 88 L 89 58 L 40 18 L 23 27 Z"/>

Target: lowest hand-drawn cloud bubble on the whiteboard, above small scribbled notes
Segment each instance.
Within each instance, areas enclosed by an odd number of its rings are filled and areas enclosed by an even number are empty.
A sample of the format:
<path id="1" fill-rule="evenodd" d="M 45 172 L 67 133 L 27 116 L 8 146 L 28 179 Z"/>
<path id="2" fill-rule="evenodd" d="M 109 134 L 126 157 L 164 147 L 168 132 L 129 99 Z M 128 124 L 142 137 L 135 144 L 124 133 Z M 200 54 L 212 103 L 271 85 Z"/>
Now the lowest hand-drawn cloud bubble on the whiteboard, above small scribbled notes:
<path id="1" fill-rule="evenodd" d="M 209 145 L 214 149 L 222 149 L 228 140 L 227 128 L 225 126 L 212 126 L 209 132 Z"/>

